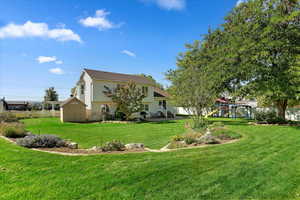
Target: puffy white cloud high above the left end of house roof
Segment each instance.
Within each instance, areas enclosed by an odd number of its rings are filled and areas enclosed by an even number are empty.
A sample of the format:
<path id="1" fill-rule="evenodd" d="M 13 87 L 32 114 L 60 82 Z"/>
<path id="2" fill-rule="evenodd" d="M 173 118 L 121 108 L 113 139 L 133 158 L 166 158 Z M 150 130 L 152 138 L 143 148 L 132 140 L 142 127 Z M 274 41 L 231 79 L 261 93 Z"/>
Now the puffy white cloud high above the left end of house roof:
<path id="1" fill-rule="evenodd" d="M 79 23 L 85 27 L 95 27 L 100 31 L 108 30 L 112 28 L 119 28 L 121 24 L 114 24 L 107 19 L 107 16 L 110 15 L 110 12 L 106 12 L 104 9 L 97 10 L 94 17 L 87 17 L 85 19 L 80 19 Z"/>

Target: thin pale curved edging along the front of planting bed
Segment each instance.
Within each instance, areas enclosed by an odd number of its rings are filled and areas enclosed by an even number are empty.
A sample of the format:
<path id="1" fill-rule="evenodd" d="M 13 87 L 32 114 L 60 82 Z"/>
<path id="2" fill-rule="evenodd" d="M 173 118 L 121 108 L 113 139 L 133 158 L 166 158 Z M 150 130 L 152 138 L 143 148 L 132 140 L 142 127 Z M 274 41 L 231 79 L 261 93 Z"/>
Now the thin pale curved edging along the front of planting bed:
<path id="1" fill-rule="evenodd" d="M 15 141 L 10 140 L 7 137 L 0 136 L 0 138 L 3 138 L 4 140 L 16 144 Z M 93 156 L 93 155 L 105 155 L 105 154 L 130 154 L 130 153 L 147 153 L 147 152 L 152 152 L 152 153 L 163 153 L 163 152 L 172 152 L 172 151 L 178 151 L 178 150 L 184 150 L 184 149 L 197 149 L 197 148 L 203 148 L 203 147 L 209 147 L 209 146 L 219 146 L 219 145 L 224 145 L 224 144 L 231 144 L 234 142 L 239 141 L 240 139 L 236 140 L 229 140 L 228 142 L 224 142 L 222 144 L 204 144 L 200 146 L 190 146 L 190 147 L 183 147 L 183 148 L 177 148 L 177 149 L 168 149 L 168 146 L 170 145 L 167 144 L 166 146 L 162 147 L 161 149 L 150 149 L 150 148 L 145 148 L 145 151 L 127 151 L 127 152 L 113 152 L 113 153 L 66 153 L 66 152 L 59 152 L 59 151 L 47 151 L 47 150 L 42 150 L 42 149 L 37 149 L 37 148 L 30 148 L 31 150 L 34 151 L 39 151 L 39 152 L 45 152 L 45 153 L 50 153 L 50 154 L 56 154 L 56 155 L 64 155 L 64 156 Z"/>

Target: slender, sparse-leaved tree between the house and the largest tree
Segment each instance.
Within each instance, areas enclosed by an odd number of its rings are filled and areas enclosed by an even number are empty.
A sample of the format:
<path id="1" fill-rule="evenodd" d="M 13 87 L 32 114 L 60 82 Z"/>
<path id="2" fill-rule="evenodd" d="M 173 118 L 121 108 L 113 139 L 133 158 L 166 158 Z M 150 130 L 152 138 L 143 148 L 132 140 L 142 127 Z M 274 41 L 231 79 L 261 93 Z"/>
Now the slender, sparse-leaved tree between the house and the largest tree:
<path id="1" fill-rule="evenodd" d="M 181 53 L 177 59 L 177 68 L 166 74 L 172 86 L 168 91 L 173 101 L 191 113 L 193 127 L 206 125 L 205 114 L 212 107 L 220 91 L 216 81 L 216 74 L 207 68 L 210 62 L 209 50 L 204 48 L 206 43 L 195 41 L 186 45 L 187 51 Z"/>

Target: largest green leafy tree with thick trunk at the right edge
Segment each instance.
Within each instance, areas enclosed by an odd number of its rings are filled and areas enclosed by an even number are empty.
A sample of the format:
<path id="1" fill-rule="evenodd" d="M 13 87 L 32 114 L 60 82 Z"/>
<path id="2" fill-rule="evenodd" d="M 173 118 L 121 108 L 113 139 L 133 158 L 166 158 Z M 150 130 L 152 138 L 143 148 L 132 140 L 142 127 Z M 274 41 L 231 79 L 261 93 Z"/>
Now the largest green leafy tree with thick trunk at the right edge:
<path id="1" fill-rule="evenodd" d="M 249 0 L 225 18 L 223 71 L 242 96 L 263 96 L 285 118 L 289 101 L 300 91 L 299 0 Z"/>

